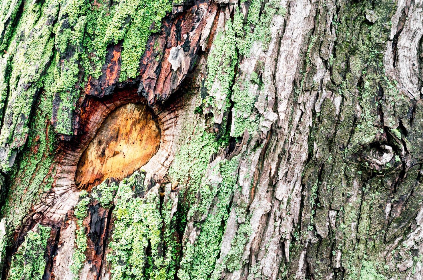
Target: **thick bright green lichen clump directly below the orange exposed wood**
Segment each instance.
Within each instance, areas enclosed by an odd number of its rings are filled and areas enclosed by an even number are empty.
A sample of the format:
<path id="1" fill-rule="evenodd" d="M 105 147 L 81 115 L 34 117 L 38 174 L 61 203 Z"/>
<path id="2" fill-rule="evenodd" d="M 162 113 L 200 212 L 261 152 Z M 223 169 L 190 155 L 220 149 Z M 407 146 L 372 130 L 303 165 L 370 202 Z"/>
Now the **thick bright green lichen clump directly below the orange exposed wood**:
<path id="1" fill-rule="evenodd" d="M 144 198 L 135 195 L 138 172 L 121 181 L 116 193 L 114 230 L 109 244 L 112 279 L 173 279 L 171 247 L 162 255 L 163 218 L 159 189 L 153 187 Z M 150 252 L 147 252 L 150 248 Z M 168 270 L 170 267 L 170 276 Z"/>

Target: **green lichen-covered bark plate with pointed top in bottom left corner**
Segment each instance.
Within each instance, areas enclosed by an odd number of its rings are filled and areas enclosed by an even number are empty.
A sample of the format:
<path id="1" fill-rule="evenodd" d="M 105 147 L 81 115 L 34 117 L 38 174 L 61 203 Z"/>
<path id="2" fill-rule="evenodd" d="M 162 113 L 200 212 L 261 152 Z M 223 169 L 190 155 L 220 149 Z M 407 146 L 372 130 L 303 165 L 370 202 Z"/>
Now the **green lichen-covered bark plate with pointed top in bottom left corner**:
<path id="1" fill-rule="evenodd" d="M 38 225 L 29 231 L 25 241 L 13 255 L 9 280 L 41 280 L 46 266 L 45 251 L 51 228 Z"/>

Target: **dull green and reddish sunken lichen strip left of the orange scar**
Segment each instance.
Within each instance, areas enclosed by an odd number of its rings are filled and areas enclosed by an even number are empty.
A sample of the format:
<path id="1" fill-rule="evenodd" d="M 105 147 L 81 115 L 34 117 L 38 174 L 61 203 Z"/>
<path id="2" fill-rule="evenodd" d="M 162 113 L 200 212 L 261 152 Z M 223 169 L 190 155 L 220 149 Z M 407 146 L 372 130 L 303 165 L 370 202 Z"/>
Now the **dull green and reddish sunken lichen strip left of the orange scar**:
<path id="1" fill-rule="evenodd" d="M 10 173 L 13 182 L 7 189 L 1 212 L 8 217 L 12 227 L 20 225 L 31 205 L 39 200 L 40 191 L 51 188 L 52 164 L 57 147 L 55 133 L 49 123 L 52 115 L 54 88 L 54 66 L 38 80 L 42 91 L 29 125 L 27 148 L 18 157 L 19 165 L 14 165 Z M 19 198 L 19 199 L 13 199 Z"/>

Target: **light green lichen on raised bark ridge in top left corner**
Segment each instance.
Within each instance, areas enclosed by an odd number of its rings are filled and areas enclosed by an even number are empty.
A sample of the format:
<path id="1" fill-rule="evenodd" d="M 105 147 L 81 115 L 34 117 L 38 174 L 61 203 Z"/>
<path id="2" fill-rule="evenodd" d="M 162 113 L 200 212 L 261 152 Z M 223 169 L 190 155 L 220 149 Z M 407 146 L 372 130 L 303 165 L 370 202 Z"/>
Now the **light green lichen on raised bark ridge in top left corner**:
<path id="1" fill-rule="evenodd" d="M 9 161 L 12 153 L 22 151 L 27 140 L 28 122 L 39 89 L 38 81 L 52 58 L 52 21 L 57 17 L 58 8 L 56 0 L 34 5 L 25 2 L 22 19 L 14 29 L 14 39 L 4 54 L 6 59 L 10 59 L 10 64 L 6 64 L 11 67 L 7 77 L 8 104 L 3 115 L 3 122 L 8 125 L 2 127 L 0 134 L 0 145 L 7 147 L 8 152 L 8 157 L 0 162 L 0 168 L 4 171 L 11 170 L 13 161 Z M 19 44 L 21 40 L 25 44 Z M 3 96 L 1 99 L 5 100 Z"/>

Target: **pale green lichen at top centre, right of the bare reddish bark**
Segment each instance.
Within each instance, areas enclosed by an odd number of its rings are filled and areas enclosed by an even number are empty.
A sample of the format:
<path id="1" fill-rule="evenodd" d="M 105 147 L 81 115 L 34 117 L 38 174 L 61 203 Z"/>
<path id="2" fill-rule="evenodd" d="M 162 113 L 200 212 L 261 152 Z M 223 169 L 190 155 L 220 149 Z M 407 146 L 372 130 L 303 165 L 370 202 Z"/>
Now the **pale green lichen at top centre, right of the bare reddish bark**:
<path id="1" fill-rule="evenodd" d="M 217 117 L 217 123 L 224 123 L 225 113 L 233 106 L 234 118 L 231 136 L 242 136 L 245 129 L 250 134 L 257 131 L 260 118 L 254 108 L 255 90 L 249 80 L 236 79 L 236 65 L 240 56 L 249 56 L 253 43 L 261 43 L 261 49 L 266 50 L 270 43 L 270 23 L 275 15 L 284 16 L 286 9 L 277 1 L 269 1 L 261 12 L 262 2 L 253 0 L 248 8 L 248 16 L 244 22 L 244 15 L 238 6 L 235 7 L 233 21 L 225 22 L 213 40 L 207 58 L 207 76 L 204 82 L 208 95 L 203 98 L 201 106 L 205 112 L 211 111 Z M 262 83 L 254 79 L 255 72 L 250 80 L 263 90 Z M 239 79 L 239 78 L 238 78 Z M 222 120 L 223 119 L 223 120 Z"/>

